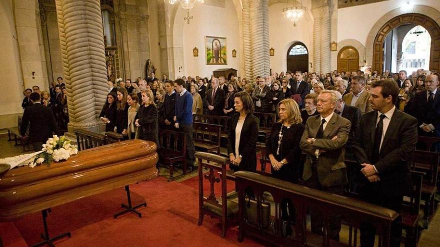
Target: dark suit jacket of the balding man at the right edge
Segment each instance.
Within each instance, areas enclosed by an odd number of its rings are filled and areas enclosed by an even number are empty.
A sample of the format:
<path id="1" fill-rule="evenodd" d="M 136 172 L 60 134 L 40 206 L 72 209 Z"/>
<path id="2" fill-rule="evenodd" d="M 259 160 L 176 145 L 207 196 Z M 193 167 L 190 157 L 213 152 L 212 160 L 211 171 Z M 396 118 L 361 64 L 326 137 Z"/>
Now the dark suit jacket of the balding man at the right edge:
<path id="1" fill-rule="evenodd" d="M 432 107 L 428 109 L 426 103 L 426 90 L 416 93 L 409 106 L 409 114 L 418 120 L 417 126 L 423 123 L 434 126 L 434 133 L 427 133 L 418 128 L 420 135 L 440 136 L 440 89 L 437 88 Z"/>

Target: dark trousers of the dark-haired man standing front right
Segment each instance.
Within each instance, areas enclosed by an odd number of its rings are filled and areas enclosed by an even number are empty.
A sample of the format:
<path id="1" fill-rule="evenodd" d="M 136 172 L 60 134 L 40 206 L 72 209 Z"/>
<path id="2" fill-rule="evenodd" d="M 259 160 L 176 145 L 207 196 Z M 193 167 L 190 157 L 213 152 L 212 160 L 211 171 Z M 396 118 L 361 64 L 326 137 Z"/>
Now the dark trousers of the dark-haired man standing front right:
<path id="1" fill-rule="evenodd" d="M 384 208 L 400 212 L 403 201 L 402 196 L 390 196 L 381 193 L 380 182 L 367 185 L 366 189 L 360 191 L 360 198 L 368 203 L 379 205 Z M 362 223 L 360 225 L 360 246 L 373 247 L 376 229 L 371 224 Z M 391 223 L 390 247 L 399 247 L 402 239 L 402 218 L 400 215 Z"/>

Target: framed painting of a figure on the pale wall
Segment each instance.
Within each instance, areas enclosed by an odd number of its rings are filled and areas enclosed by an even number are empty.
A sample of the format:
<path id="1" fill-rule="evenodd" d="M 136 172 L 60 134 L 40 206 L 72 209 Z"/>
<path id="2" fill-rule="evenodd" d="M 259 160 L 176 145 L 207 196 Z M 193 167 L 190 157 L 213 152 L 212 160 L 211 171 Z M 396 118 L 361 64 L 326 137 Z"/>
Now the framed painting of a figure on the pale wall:
<path id="1" fill-rule="evenodd" d="M 204 46 L 206 50 L 207 65 L 227 64 L 226 38 L 204 36 Z"/>

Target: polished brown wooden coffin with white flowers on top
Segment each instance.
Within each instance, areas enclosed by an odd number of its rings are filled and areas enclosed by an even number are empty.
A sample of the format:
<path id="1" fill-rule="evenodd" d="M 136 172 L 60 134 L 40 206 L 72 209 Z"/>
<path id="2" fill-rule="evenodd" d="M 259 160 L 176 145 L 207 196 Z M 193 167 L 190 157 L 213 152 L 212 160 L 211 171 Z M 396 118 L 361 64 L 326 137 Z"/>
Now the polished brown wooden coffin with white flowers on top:
<path id="1" fill-rule="evenodd" d="M 0 221 L 157 177 L 156 148 L 129 140 L 80 151 L 50 167 L 9 170 L 0 177 Z"/>

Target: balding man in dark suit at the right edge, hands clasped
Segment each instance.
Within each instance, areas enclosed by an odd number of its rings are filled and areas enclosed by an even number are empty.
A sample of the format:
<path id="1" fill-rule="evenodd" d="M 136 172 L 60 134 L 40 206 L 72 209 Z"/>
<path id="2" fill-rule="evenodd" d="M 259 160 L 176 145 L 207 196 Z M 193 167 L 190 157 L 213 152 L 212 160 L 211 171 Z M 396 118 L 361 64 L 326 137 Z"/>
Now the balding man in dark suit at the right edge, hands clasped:
<path id="1" fill-rule="evenodd" d="M 425 79 L 426 90 L 415 94 L 409 114 L 418 120 L 418 134 L 440 136 L 440 92 L 438 75 L 428 75 Z"/>

